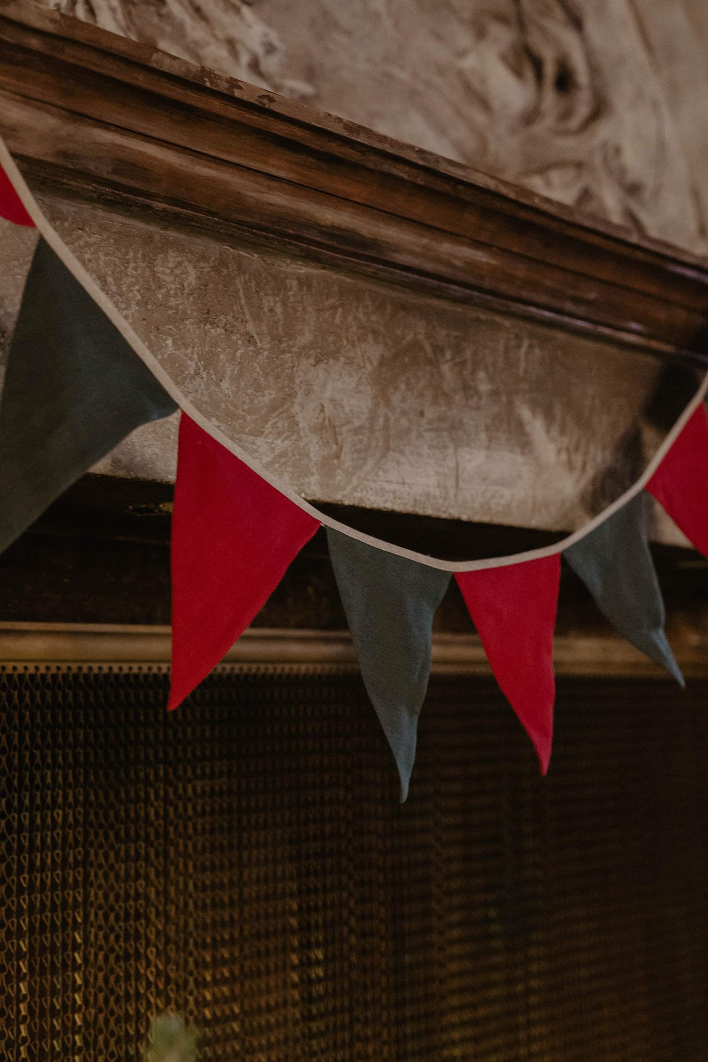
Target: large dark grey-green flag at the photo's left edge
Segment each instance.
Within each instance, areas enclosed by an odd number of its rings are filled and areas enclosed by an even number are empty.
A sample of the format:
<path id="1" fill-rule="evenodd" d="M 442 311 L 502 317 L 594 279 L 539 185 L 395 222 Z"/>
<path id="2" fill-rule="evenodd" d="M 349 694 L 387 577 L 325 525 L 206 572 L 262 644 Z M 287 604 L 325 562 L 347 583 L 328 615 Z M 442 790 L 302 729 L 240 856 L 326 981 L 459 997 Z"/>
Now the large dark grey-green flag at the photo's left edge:
<path id="1" fill-rule="evenodd" d="M 0 550 L 134 428 L 176 409 L 40 239 L 0 401 Z"/>

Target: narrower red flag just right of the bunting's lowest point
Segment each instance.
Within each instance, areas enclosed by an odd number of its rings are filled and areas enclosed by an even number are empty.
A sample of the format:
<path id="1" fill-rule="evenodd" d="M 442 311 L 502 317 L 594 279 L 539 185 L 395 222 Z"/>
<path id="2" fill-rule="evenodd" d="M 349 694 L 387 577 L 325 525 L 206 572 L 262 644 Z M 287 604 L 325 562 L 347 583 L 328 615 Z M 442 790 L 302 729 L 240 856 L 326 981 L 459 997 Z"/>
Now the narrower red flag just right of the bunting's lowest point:
<path id="1" fill-rule="evenodd" d="M 553 629 L 560 554 L 455 575 L 499 686 L 548 771 L 553 741 Z"/>

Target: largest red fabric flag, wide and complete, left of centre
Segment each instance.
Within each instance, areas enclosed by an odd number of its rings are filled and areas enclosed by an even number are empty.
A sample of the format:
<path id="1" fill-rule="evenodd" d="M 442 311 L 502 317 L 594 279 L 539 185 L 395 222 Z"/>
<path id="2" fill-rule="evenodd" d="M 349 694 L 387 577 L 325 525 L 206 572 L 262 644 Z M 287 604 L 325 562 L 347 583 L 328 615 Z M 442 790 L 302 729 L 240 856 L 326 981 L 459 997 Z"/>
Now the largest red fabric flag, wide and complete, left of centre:
<path id="1" fill-rule="evenodd" d="M 172 518 L 176 708 L 228 652 L 318 520 L 184 413 Z"/>

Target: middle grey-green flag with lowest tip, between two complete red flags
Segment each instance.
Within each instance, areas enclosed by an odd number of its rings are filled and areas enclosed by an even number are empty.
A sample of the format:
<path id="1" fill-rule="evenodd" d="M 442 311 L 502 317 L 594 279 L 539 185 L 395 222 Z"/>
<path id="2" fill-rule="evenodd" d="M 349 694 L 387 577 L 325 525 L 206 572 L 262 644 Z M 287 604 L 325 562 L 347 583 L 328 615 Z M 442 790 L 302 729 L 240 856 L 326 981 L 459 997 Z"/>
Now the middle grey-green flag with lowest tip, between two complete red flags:
<path id="1" fill-rule="evenodd" d="M 430 676 L 433 615 L 450 572 L 331 528 L 327 539 L 362 679 L 396 757 L 404 801 Z"/>

